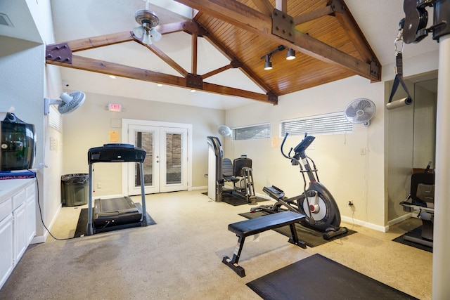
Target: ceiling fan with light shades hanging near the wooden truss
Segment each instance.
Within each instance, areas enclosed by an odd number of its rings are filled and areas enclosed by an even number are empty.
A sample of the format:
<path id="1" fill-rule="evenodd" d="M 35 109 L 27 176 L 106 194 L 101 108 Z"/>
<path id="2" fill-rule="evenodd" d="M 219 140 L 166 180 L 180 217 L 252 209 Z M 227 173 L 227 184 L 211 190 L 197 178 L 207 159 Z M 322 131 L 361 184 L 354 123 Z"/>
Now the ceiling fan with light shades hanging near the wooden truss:
<path id="1" fill-rule="evenodd" d="M 160 23 L 160 19 L 155 12 L 148 10 L 148 0 L 146 1 L 146 9 L 136 11 L 134 19 L 141 26 L 135 27 L 133 34 L 143 44 L 151 45 L 152 39 L 153 41 L 159 41 L 161 39 L 161 34 L 155 30 L 155 27 Z"/>

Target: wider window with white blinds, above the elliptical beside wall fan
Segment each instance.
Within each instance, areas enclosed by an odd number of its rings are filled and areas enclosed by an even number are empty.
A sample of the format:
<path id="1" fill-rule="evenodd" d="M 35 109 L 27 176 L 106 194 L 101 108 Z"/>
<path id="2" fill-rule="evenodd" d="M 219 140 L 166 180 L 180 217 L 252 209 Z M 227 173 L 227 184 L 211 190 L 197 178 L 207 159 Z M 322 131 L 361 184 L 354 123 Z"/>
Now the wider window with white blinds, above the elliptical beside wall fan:
<path id="1" fill-rule="evenodd" d="M 352 133 L 353 124 L 347 120 L 344 112 L 333 112 L 300 119 L 281 121 L 281 136 L 286 132 L 293 136 L 308 134 L 342 134 Z"/>

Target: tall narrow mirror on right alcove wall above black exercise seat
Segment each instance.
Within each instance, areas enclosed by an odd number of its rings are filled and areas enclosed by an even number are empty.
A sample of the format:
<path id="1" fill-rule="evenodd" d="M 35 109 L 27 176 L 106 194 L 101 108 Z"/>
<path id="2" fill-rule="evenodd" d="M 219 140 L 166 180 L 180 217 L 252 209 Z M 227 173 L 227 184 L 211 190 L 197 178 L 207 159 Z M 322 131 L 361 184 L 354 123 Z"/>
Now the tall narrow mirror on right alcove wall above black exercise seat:
<path id="1" fill-rule="evenodd" d="M 435 168 L 437 79 L 414 83 L 413 168 Z"/>

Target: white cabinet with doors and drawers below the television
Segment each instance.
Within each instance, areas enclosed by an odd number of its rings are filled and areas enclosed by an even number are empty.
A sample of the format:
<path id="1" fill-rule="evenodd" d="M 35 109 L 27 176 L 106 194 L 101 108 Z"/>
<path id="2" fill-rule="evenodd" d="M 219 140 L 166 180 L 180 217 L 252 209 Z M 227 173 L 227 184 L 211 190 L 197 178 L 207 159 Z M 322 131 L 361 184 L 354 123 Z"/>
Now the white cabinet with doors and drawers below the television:
<path id="1" fill-rule="evenodd" d="M 36 180 L 0 181 L 0 289 L 36 233 Z"/>

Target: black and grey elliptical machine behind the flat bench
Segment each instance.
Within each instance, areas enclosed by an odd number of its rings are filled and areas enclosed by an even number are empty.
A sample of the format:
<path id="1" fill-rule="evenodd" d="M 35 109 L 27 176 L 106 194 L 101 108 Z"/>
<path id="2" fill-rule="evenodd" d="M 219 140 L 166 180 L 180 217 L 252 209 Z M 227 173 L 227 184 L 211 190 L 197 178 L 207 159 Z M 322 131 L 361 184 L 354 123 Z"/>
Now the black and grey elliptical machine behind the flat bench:
<path id="1" fill-rule="evenodd" d="M 264 193 L 274 198 L 276 203 L 274 205 L 261 205 L 259 207 L 254 207 L 250 209 L 250 211 L 266 211 L 267 213 L 276 213 L 278 211 L 290 210 L 304 214 L 306 218 L 301 222 L 302 225 L 321 230 L 325 240 L 329 240 L 332 237 L 347 233 L 347 228 L 340 227 L 340 212 L 338 204 L 336 204 L 333 195 L 331 195 L 325 186 L 319 182 L 316 164 L 314 164 L 314 161 L 306 155 L 305 151 L 314 141 L 315 137 L 308 136 L 307 133 L 305 133 L 303 140 L 294 149 L 290 148 L 288 155 L 285 155 L 283 146 L 288 134 L 289 133 L 285 134 L 283 142 L 281 143 L 281 154 L 290 159 L 293 166 L 300 166 L 300 173 L 302 174 L 304 181 L 304 192 L 301 195 L 288 198 L 285 197 L 283 190 L 277 188 L 275 185 L 272 185 L 271 187 L 264 187 Z M 291 156 L 291 152 L 293 150 L 295 154 Z M 313 165 L 312 169 L 309 161 L 311 161 Z M 309 178 L 308 188 L 307 178 L 304 176 L 305 173 Z"/>

